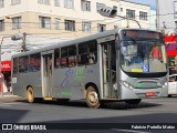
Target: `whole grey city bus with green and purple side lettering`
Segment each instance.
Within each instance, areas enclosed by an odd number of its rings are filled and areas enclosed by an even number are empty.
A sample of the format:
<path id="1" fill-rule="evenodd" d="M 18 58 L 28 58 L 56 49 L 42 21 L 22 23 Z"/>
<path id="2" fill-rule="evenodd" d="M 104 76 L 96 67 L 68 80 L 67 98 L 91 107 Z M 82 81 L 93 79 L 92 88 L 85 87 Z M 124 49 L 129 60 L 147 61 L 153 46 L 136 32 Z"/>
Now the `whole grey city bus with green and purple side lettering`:
<path id="1" fill-rule="evenodd" d="M 152 30 L 114 29 L 14 54 L 12 89 L 30 103 L 84 100 L 90 108 L 167 96 L 164 37 Z"/>

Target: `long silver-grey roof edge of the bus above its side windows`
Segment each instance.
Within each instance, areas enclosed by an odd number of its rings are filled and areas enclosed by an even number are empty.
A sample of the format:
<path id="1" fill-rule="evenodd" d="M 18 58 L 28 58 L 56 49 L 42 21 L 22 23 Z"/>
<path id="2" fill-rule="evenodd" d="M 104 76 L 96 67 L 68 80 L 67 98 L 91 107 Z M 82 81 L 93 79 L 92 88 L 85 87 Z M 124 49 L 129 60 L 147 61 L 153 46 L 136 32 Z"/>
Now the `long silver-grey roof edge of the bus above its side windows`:
<path id="1" fill-rule="evenodd" d="M 69 40 L 69 41 L 64 41 L 64 42 L 55 42 L 51 45 L 43 47 L 41 49 L 13 54 L 12 58 L 34 54 L 34 53 L 38 53 L 38 52 L 44 52 L 44 51 L 48 51 L 48 50 L 53 50 L 53 49 L 56 49 L 56 48 L 60 48 L 60 47 L 67 47 L 67 45 L 72 45 L 72 44 L 77 44 L 77 43 L 100 39 L 100 38 L 103 38 L 103 37 L 106 37 L 106 35 L 112 35 L 112 34 L 118 33 L 121 30 L 125 30 L 125 29 L 127 29 L 127 30 L 143 30 L 143 29 L 128 29 L 128 28 L 107 30 L 107 31 L 104 31 L 104 32 L 101 32 L 101 33 L 91 34 L 91 35 L 87 35 L 87 37 L 79 38 L 79 39 L 73 39 L 73 40 Z M 148 31 L 153 31 L 153 30 L 148 30 Z"/>

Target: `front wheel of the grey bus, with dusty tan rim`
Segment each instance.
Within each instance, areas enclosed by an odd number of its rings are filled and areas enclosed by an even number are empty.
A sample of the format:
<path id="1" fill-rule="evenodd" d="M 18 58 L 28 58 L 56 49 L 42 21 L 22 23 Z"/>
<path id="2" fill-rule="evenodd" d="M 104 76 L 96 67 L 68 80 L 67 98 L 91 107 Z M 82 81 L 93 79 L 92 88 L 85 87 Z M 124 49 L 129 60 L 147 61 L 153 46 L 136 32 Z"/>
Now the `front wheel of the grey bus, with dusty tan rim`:
<path id="1" fill-rule="evenodd" d="M 90 85 L 86 90 L 86 103 L 93 109 L 97 109 L 101 105 L 98 93 L 92 85 Z"/>

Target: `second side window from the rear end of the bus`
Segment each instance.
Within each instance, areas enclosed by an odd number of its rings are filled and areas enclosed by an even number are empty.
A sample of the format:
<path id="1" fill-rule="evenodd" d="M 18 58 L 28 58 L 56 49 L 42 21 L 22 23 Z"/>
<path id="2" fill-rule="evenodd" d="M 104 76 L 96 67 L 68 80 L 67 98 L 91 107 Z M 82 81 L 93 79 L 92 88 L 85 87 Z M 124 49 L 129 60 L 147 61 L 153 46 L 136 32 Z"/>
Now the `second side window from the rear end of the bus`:
<path id="1" fill-rule="evenodd" d="M 19 72 L 28 72 L 29 57 L 19 58 Z"/>

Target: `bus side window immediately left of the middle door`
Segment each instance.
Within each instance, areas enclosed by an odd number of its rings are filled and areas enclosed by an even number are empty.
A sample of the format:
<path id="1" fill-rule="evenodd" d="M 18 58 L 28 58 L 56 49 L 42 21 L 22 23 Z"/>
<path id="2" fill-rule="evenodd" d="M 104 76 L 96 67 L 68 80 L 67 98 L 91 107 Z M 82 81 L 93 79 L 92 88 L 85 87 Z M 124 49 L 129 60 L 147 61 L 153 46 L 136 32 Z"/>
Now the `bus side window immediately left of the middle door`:
<path id="1" fill-rule="evenodd" d="M 30 64 L 29 64 L 29 71 L 35 72 L 41 70 L 41 54 L 35 53 L 30 55 Z"/>

